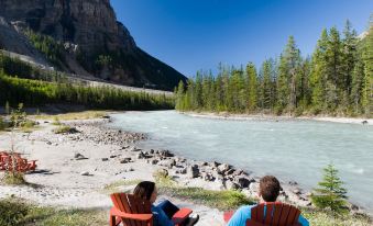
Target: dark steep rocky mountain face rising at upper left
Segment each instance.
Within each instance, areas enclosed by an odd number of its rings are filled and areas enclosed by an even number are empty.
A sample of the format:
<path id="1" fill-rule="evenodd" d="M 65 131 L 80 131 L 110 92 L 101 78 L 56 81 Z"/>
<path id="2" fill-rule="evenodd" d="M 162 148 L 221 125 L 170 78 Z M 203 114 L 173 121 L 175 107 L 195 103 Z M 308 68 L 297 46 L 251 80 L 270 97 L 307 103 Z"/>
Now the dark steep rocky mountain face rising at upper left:
<path id="1" fill-rule="evenodd" d="M 186 81 L 136 46 L 109 0 L 0 0 L 0 16 L 1 48 L 30 55 L 25 31 L 51 36 L 64 48 L 63 70 L 168 90 Z"/>

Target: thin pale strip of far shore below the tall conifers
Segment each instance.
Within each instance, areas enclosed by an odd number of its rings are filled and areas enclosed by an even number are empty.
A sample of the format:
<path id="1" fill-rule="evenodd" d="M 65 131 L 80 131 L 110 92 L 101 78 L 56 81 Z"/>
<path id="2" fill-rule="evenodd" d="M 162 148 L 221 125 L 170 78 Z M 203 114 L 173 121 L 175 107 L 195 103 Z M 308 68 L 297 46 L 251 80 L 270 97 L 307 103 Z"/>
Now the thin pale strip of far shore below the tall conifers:
<path id="1" fill-rule="evenodd" d="M 231 114 L 231 113 L 212 113 L 212 112 L 178 112 L 193 117 L 204 117 L 212 120 L 232 120 L 232 121 L 252 121 L 252 120 L 270 120 L 270 121 L 286 121 L 286 120 L 307 120 L 329 123 L 343 124 L 364 124 L 373 125 L 373 118 L 365 117 L 331 117 L 331 116 L 286 116 L 271 114 Z"/>

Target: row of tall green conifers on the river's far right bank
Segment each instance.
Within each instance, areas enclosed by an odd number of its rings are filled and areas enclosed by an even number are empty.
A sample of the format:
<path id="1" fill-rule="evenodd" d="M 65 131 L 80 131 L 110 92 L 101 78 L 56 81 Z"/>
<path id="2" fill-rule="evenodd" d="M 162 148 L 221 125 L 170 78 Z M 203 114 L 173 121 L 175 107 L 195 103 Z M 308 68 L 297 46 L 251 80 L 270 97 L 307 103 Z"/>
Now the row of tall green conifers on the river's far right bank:
<path id="1" fill-rule="evenodd" d="M 323 30 L 311 56 L 293 36 L 277 58 L 245 68 L 219 64 L 218 75 L 198 71 L 175 89 L 179 111 L 371 116 L 373 25 L 360 38 L 347 21 L 342 34 Z"/>

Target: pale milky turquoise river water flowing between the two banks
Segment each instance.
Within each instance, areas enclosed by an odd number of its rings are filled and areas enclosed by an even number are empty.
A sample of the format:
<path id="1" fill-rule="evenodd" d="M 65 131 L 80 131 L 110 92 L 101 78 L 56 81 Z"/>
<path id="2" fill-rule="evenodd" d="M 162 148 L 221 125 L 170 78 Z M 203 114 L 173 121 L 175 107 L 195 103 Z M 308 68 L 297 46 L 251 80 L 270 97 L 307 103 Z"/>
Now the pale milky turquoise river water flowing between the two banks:
<path id="1" fill-rule="evenodd" d="M 147 148 L 166 148 L 198 160 L 216 160 L 295 180 L 311 189 L 321 169 L 340 170 L 350 201 L 373 213 L 373 126 L 307 120 L 229 121 L 175 111 L 113 114 L 113 125 L 145 133 Z"/>

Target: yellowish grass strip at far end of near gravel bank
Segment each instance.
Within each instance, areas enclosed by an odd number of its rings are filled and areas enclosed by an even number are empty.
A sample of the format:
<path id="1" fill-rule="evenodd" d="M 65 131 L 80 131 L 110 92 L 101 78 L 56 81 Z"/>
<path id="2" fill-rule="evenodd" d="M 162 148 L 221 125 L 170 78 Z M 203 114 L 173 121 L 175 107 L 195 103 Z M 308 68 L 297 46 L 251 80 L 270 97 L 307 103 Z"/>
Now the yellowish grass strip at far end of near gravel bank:
<path id="1" fill-rule="evenodd" d="M 66 113 L 66 114 L 57 114 L 57 115 L 34 115 L 34 118 L 36 120 L 54 120 L 56 122 L 58 121 L 69 121 L 69 120 L 90 120 L 90 118 L 99 118 L 107 116 L 107 111 L 84 111 L 84 112 L 73 112 L 73 113 Z"/>

